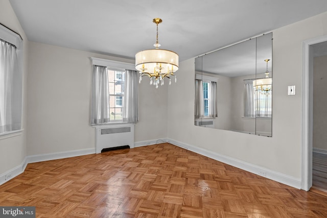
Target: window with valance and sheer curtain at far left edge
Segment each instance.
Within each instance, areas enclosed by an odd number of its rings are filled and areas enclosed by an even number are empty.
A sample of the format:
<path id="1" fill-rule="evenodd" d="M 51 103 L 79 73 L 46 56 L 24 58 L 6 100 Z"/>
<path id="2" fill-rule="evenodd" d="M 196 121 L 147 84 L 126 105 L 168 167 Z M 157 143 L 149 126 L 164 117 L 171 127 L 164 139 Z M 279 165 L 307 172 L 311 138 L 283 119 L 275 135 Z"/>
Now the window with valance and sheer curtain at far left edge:
<path id="1" fill-rule="evenodd" d="M 0 25 L 0 135 L 21 130 L 22 40 Z"/>

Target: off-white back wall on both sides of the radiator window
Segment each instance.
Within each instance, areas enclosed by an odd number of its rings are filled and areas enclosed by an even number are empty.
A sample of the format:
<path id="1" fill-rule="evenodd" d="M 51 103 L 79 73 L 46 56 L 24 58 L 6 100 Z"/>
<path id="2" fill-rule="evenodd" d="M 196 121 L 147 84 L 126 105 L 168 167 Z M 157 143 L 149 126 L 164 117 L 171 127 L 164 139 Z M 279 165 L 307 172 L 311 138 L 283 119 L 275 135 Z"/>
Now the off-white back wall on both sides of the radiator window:
<path id="1" fill-rule="evenodd" d="M 28 155 L 95 148 L 95 129 L 89 124 L 90 57 L 133 62 L 30 42 Z M 156 89 L 148 81 L 139 85 L 135 142 L 167 135 L 167 86 Z"/>

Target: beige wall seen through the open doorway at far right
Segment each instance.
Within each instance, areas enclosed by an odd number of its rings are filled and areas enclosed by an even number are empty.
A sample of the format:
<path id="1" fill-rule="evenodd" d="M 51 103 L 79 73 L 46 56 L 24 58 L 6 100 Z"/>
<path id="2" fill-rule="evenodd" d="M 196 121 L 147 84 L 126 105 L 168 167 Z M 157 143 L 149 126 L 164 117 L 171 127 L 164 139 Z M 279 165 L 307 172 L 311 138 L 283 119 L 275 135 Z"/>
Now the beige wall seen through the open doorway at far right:
<path id="1" fill-rule="evenodd" d="M 313 148 L 327 151 L 327 56 L 313 59 Z"/>

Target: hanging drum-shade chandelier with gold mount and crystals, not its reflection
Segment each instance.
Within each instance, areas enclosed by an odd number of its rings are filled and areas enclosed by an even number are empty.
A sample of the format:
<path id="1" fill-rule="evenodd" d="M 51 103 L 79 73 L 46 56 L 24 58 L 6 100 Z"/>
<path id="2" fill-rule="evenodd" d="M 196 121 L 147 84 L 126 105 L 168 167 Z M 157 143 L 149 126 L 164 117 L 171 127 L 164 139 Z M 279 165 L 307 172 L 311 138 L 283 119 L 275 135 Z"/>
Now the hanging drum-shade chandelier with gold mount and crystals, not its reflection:
<path id="1" fill-rule="evenodd" d="M 139 71 L 139 83 L 142 77 L 150 78 L 150 85 L 158 88 L 159 83 L 164 85 L 164 78 L 169 79 L 171 84 L 171 76 L 175 76 L 174 72 L 178 70 L 178 55 L 169 50 L 159 49 L 158 43 L 158 24 L 162 22 L 160 18 L 154 18 L 153 22 L 157 25 L 156 43 L 153 45 L 155 49 L 144 50 L 135 55 L 135 68 Z M 177 78 L 175 76 L 175 82 Z"/>

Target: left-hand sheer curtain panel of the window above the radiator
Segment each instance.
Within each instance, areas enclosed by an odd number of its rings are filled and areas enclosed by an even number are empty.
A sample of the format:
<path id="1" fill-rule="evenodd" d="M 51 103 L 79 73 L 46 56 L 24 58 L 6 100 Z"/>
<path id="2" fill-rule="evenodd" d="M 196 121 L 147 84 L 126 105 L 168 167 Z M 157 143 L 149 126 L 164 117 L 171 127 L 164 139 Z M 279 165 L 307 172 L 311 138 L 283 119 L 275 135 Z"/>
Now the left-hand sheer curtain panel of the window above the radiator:
<path id="1" fill-rule="evenodd" d="M 103 124 L 110 121 L 108 88 L 107 67 L 93 65 L 91 124 Z"/>

